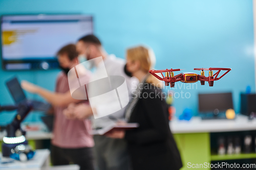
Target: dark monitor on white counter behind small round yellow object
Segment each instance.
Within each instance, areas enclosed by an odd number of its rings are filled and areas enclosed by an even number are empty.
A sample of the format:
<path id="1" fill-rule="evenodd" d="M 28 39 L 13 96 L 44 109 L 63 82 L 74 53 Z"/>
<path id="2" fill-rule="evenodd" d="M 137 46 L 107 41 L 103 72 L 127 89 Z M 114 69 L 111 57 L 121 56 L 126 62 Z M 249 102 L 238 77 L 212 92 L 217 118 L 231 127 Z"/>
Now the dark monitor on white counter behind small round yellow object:
<path id="1" fill-rule="evenodd" d="M 216 109 L 224 112 L 233 109 L 232 93 L 211 93 L 198 95 L 199 112 L 213 113 Z"/>

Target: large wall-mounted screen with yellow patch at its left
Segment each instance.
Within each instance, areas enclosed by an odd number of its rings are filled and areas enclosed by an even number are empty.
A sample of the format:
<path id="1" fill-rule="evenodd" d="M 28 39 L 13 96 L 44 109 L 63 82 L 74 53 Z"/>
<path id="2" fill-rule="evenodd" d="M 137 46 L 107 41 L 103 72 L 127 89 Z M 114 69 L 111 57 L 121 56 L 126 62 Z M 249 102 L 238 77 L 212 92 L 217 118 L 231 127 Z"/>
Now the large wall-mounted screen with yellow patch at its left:
<path id="1" fill-rule="evenodd" d="M 3 68 L 56 68 L 56 53 L 62 46 L 92 33 L 90 15 L 3 15 Z"/>

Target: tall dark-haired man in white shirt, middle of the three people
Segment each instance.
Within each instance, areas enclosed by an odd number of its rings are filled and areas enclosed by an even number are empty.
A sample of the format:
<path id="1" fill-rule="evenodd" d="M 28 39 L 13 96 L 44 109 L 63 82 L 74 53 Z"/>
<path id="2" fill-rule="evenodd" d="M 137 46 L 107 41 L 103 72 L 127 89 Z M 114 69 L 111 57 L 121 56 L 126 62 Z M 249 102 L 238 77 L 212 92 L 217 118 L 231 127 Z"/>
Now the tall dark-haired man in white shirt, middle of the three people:
<path id="1" fill-rule="evenodd" d="M 115 55 L 108 55 L 96 36 L 87 35 L 80 38 L 76 44 L 76 49 L 81 62 L 101 56 L 108 76 L 124 77 L 127 89 L 131 94 L 132 83 L 137 83 L 136 79 L 125 74 L 124 60 L 117 58 Z M 99 63 L 91 64 L 90 67 L 94 67 L 96 71 L 97 69 L 100 69 Z M 105 88 L 104 86 L 105 84 L 102 84 L 99 90 Z M 90 91 L 90 87 L 87 90 Z M 112 124 L 113 118 L 116 120 L 124 119 L 124 110 L 125 108 L 111 114 L 112 118 L 110 118 L 110 116 L 104 116 L 97 119 L 92 118 L 93 129 L 101 129 Z M 93 111 L 88 105 L 79 104 L 75 107 L 73 105 L 69 106 L 68 109 L 65 110 L 65 114 L 68 117 L 87 118 L 93 115 Z M 94 142 L 96 164 L 99 170 L 129 169 L 130 163 L 127 153 L 127 143 L 124 139 L 114 139 L 103 135 L 94 135 Z"/>

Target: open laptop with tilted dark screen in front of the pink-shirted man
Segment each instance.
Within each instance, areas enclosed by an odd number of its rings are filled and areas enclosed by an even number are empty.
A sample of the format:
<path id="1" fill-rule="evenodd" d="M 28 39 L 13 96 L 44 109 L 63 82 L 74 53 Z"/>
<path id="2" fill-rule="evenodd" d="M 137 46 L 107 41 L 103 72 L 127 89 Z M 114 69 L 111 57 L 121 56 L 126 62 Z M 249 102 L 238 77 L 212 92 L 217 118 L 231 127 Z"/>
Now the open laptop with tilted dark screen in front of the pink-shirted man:
<path id="1" fill-rule="evenodd" d="M 18 105 L 20 103 L 30 102 L 32 104 L 33 110 L 48 111 L 50 109 L 51 105 L 49 103 L 28 100 L 16 77 L 7 81 L 6 85 L 12 95 L 15 104 Z"/>

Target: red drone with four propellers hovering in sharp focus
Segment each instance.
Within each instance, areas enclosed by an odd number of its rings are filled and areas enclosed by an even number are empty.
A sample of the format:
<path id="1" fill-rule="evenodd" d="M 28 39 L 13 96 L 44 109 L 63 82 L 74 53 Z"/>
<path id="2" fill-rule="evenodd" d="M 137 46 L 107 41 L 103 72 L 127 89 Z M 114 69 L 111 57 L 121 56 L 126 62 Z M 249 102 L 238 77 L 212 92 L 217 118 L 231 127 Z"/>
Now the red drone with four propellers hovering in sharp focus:
<path id="1" fill-rule="evenodd" d="M 150 74 L 155 76 L 157 79 L 165 82 L 165 86 L 170 84 L 170 87 L 174 87 L 175 82 L 183 82 L 183 83 L 195 83 L 200 80 L 201 85 L 204 85 L 204 82 L 208 82 L 209 86 L 214 86 L 214 81 L 220 80 L 223 76 L 225 76 L 231 68 L 194 68 L 194 70 L 201 70 L 201 75 L 196 73 L 181 73 L 179 75 L 174 76 L 173 71 L 180 71 L 181 69 L 162 69 L 162 70 L 150 70 Z M 204 70 L 209 70 L 209 76 L 204 76 Z M 213 74 L 212 70 L 218 70 L 215 74 Z M 226 72 L 218 78 L 218 75 L 221 70 L 226 70 Z M 163 72 L 165 72 L 165 76 L 161 78 L 156 73 L 161 72 L 163 76 Z M 214 77 L 215 76 L 215 77 Z"/>

